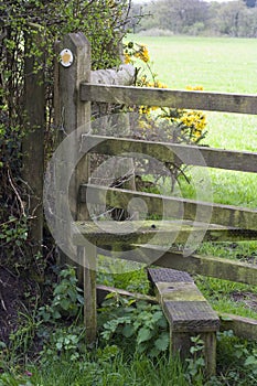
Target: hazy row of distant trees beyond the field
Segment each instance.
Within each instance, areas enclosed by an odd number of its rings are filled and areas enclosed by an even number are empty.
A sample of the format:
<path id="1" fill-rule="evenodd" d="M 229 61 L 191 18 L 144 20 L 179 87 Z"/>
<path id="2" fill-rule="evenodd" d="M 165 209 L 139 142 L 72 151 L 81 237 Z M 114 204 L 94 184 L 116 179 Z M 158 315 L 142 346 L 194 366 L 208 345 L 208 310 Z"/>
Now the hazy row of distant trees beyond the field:
<path id="1" fill-rule="evenodd" d="M 131 12 L 133 32 L 257 37 L 257 0 L 153 0 Z"/>

